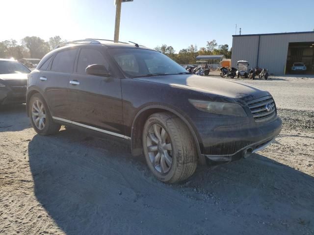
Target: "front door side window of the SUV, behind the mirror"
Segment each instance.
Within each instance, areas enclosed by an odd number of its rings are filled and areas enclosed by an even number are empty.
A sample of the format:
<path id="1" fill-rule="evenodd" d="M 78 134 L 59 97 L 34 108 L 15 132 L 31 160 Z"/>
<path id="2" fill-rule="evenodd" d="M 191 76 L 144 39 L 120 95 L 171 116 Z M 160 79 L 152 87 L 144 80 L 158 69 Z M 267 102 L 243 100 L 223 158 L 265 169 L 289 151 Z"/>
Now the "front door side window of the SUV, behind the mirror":
<path id="1" fill-rule="evenodd" d="M 100 51 L 82 48 L 78 56 L 78 73 L 86 74 L 86 67 L 94 64 L 105 65 L 108 69 L 108 63 L 105 61 L 105 58 Z"/>

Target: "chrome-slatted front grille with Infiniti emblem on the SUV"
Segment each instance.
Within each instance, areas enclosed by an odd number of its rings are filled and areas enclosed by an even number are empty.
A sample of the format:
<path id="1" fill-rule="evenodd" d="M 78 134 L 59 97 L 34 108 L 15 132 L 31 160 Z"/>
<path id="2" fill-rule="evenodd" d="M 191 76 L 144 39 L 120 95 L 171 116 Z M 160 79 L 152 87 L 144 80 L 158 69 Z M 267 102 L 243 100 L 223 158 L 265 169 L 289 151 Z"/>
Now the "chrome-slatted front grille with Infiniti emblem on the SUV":
<path id="1" fill-rule="evenodd" d="M 271 106 L 270 111 L 267 111 L 268 104 Z M 271 95 L 252 100 L 248 106 L 256 122 L 268 121 L 276 116 L 276 106 Z"/>

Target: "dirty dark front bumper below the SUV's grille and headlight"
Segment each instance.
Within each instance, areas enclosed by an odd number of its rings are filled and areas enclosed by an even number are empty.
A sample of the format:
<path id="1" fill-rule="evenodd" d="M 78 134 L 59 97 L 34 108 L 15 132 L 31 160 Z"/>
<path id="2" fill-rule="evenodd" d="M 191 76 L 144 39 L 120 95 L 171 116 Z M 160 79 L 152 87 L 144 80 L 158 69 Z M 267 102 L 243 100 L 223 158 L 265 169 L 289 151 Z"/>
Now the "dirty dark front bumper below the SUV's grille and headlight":
<path id="1" fill-rule="evenodd" d="M 212 132 L 203 140 L 202 155 L 207 164 L 239 160 L 269 145 L 281 132 L 282 120 L 278 116 L 264 124 L 242 125 L 237 130 Z"/>

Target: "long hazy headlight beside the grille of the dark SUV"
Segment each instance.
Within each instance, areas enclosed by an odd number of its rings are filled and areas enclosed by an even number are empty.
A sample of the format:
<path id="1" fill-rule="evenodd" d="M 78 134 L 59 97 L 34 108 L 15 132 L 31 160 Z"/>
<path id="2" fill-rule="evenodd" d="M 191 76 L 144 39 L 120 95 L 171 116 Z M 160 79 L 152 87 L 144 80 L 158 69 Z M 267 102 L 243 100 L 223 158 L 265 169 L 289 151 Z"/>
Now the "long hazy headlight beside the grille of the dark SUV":
<path id="1" fill-rule="evenodd" d="M 235 103 L 211 102 L 205 100 L 189 99 L 189 102 L 198 110 L 212 114 L 247 117 L 241 105 Z"/>

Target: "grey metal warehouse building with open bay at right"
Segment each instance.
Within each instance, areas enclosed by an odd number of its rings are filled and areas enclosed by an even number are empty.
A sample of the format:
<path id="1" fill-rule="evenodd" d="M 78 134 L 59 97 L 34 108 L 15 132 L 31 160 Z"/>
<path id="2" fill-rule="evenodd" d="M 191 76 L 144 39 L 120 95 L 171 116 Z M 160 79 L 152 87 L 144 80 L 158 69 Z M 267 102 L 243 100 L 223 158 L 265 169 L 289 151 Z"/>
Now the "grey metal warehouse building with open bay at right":
<path id="1" fill-rule="evenodd" d="M 303 62 L 314 74 L 314 31 L 233 35 L 232 67 L 246 60 L 273 74 L 291 73 L 293 63 Z"/>

